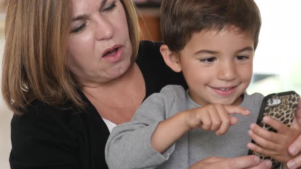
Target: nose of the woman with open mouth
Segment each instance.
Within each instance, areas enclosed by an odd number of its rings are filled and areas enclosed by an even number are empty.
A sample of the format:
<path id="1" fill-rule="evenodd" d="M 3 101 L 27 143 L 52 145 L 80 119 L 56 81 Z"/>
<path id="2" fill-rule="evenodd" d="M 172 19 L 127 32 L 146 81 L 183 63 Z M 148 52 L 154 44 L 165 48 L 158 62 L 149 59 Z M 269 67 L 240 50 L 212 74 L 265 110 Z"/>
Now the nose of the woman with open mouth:
<path id="1" fill-rule="evenodd" d="M 99 16 L 95 24 L 95 38 L 97 40 L 111 39 L 114 35 L 114 26 L 110 19 Z"/>

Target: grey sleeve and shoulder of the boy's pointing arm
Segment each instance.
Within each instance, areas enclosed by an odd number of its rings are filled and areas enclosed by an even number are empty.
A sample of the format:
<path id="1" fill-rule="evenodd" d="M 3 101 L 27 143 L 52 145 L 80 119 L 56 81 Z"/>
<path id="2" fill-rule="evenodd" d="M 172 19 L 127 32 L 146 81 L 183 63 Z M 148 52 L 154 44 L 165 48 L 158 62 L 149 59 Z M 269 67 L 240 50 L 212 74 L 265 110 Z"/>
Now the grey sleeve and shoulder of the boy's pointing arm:
<path id="1" fill-rule="evenodd" d="M 113 128 L 105 149 L 109 168 L 155 168 L 169 159 L 174 145 L 161 154 L 150 145 L 150 137 L 158 123 L 169 117 L 167 111 L 173 104 L 184 107 L 181 104 L 185 101 L 176 100 L 171 90 L 167 86 L 160 93 L 149 96 L 138 108 L 131 122 Z M 174 90 L 185 96 L 183 88 Z"/>

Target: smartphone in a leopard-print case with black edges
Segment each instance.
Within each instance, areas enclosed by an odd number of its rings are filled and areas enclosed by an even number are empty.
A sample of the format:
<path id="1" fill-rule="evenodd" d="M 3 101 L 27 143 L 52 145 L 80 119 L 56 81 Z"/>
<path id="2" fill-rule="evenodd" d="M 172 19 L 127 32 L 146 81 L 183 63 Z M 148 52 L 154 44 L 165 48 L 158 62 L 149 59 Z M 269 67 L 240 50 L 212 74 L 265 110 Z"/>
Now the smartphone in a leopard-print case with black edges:
<path id="1" fill-rule="evenodd" d="M 293 119 L 298 106 L 299 98 L 300 96 L 294 91 L 267 95 L 262 100 L 257 124 L 264 129 L 277 132 L 277 130 L 273 129 L 271 126 L 263 123 L 262 119 L 265 116 L 269 116 L 290 127 L 293 124 Z M 254 140 L 252 140 L 252 143 L 257 145 L 257 143 Z M 281 164 L 280 162 L 272 159 L 269 156 L 253 152 L 252 150 L 249 150 L 248 155 L 257 155 L 260 158 L 260 160 L 271 160 L 272 168 L 278 167 Z"/>

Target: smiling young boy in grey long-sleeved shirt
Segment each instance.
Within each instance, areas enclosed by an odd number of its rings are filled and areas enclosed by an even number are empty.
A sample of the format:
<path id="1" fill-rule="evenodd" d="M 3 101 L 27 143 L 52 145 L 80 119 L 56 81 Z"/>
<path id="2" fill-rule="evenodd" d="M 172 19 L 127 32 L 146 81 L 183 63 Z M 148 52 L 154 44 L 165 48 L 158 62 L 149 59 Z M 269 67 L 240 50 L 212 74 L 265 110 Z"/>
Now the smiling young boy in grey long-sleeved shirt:
<path id="1" fill-rule="evenodd" d="M 131 122 L 115 127 L 106 146 L 109 167 L 188 168 L 211 156 L 247 155 L 249 126 L 263 99 L 245 92 L 260 26 L 259 9 L 250 0 L 163 1 L 160 51 L 173 71 L 183 72 L 189 90 L 166 86 L 142 103 Z M 258 140 L 261 130 L 252 126 L 257 132 L 249 134 Z M 290 133 L 284 138 L 299 134 Z M 288 161 L 287 153 L 279 154 L 278 160 Z"/>

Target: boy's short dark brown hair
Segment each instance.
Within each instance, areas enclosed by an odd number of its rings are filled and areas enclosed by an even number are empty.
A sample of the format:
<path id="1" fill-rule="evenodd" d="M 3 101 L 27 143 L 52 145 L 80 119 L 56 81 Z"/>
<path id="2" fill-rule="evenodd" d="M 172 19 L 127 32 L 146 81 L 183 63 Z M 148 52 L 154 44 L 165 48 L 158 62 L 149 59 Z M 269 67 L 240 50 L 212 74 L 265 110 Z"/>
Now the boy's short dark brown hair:
<path id="1" fill-rule="evenodd" d="M 163 42 L 174 52 L 182 50 L 194 33 L 230 26 L 249 33 L 256 49 L 261 16 L 253 0 L 163 0 L 161 4 Z"/>

